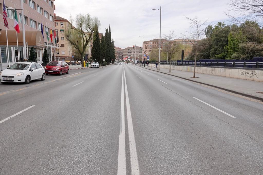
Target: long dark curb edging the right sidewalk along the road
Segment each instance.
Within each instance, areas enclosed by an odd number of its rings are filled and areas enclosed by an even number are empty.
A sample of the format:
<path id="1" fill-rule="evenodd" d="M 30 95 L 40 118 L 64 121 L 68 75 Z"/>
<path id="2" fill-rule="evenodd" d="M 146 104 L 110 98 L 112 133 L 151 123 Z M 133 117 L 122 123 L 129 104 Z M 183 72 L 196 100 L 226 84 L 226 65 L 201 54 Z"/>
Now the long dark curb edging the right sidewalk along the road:
<path id="1" fill-rule="evenodd" d="M 148 68 L 145 68 L 145 69 L 148 69 Z M 148 70 L 152 70 L 152 69 L 148 69 Z M 152 70 L 152 71 L 159 72 L 157 70 Z M 171 74 L 164 73 L 164 72 L 159 72 L 159 73 L 163 73 L 163 74 L 166 74 L 166 75 L 171 75 Z M 171 76 L 175 76 L 177 78 L 181 78 L 181 79 L 184 79 L 184 80 L 189 80 L 189 81 L 193 81 L 195 83 L 200 83 L 200 84 L 204 84 L 204 85 L 207 85 L 207 86 L 215 87 L 215 88 L 218 88 L 218 89 L 221 89 L 221 90 L 232 92 L 234 94 L 239 94 L 239 95 L 242 95 L 242 96 L 245 96 L 245 97 L 249 97 L 249 98 L 252 98 L 252 99 L 261 100 L 263 102 L 263 98 L 256 97 L 254 95 L 249 95 L 249 94 L 245 94 L 245 93 L 242 93 L 242 92 L 233 91 L 233 90 L 230 90 L 230 89 L 225 89 L 224 87 L 219 87 L 219 86 L 215 86 L 215 85 L 211 85 L 211 84 L 207 84 L 207 83 L 202 83 L 202 82 L 199 82 L 199 81 L 191 80 L 191 79 L 188 79 L 188 78 L 183 78 L 183 77 L 176 76 L 176 75 L 171 75 Z"/>

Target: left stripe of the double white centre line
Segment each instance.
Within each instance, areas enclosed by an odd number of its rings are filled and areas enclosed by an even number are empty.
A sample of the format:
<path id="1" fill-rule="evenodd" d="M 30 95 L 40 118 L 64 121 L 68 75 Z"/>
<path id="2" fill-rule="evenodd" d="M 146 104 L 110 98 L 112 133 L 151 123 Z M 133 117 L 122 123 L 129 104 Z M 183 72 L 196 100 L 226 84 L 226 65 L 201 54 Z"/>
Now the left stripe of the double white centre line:
<path id="1" fill-rule="evenodd" d="M 119 135 L 119 154 L 118 154 L 118 175 L 126 174 L 126 150 L 125 150 L 125 122 L 124 122 L 124 88 L 123 88 L 122 68 L 122 94 L 120 103 L 120 135 Z"/>

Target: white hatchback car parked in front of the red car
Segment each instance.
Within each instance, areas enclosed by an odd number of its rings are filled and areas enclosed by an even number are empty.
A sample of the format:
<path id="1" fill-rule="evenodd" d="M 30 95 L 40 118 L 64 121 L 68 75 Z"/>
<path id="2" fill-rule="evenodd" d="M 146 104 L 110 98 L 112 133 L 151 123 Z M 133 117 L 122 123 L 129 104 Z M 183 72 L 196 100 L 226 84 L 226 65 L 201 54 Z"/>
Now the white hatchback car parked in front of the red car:
<path id="1" fill-rule="evenodd" d="M 31 80 L 45 80 L 45 69 L 39 63 L 18 62 L 0 72 L 1 83 L 21 83 L 29 84 Z"/>

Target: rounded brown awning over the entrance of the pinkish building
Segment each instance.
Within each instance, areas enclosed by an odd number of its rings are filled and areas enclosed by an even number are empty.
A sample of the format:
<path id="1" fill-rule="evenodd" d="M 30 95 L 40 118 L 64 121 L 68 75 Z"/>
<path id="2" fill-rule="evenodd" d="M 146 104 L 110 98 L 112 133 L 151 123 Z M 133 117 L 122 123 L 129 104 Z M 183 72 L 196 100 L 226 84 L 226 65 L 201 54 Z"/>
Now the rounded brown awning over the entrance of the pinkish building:
<path id="1" fill-rule="evenodd" d="M 41 31 L 26 31 L 26 42 L 28 46 L 37 46 L 37 47 L 44 47 L 44 39 L 42 36 Z M 8 45 L 9 46 L 17 46 L 17 39 L 16 39 L 16 31 L 15 30 L 8 30 Z M 23 46 L 23 34 L 22 31 L 17 34 L 18 38 L 18 46 Z M 0 46 L 6 46 L 6 31 L 2 30 L 0 35 Z"/>

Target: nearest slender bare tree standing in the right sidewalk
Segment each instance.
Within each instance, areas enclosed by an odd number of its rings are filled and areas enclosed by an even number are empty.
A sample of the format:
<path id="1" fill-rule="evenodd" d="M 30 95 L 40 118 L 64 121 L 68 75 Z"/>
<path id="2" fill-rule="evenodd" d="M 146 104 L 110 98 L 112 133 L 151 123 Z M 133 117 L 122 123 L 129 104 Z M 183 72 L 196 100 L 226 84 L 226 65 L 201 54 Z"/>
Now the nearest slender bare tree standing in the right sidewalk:
<path id="1" fill-rule="evenodd" d="M 195 65 L 194 65 L 194 76 L 193 78 L 195 78 L 195 67 L 196 67 L 196 57 L 198 54 L 198 44 L 199 44 L 199 39 L 204 35 L 204 30 L 206 28 L 203 28 L 203 26 L 205 25 L 205 22 L 202 22 L 200 20 L 198 20 L 198 17 L 195 17 L 193 19 L 185 17 L 186 19 L 188 19 L 190 21 L 190 28 L 192 28 L 192 31 L 188 31 L 188 35 L 184 35 L 184 37 L 190 41 L 193 45 L 193 47 L 195 48 Z"/>

